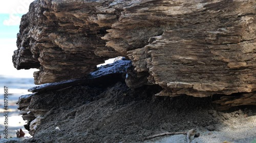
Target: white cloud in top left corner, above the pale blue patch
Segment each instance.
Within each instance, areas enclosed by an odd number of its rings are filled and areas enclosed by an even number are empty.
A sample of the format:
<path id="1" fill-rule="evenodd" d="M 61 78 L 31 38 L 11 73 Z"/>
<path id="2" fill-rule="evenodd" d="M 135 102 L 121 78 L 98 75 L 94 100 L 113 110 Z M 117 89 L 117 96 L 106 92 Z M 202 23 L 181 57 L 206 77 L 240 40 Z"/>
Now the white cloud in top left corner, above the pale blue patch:
<path id="1" fill-rule="evenodd" d="M 29 5 L 33 0 L 8 0 L 0 1 L 0 13 L 5 14 L 25 14 L 29 10 Z"/>

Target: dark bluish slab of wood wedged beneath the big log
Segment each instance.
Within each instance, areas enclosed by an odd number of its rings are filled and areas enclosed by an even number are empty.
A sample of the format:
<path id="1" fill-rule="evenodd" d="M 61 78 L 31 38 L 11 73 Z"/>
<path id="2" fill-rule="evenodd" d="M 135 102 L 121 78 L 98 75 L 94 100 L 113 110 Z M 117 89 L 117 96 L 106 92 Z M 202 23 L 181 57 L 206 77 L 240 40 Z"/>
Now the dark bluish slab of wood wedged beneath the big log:
<path id="1" fill-rule="evenodd" d="M 126 70 L 131 66 L 130 60 L 118 60 L 113 64 L 101 66 L 98 70 L 91 72 L 84 78 L 71 79 L 54 83 L 46 83 L 29 89 L 29 92 L 50 92 L 61 89 L 66 89 L 76 85 L 110 85 L 117 81 L 123 81 L 125 79 Z"/>

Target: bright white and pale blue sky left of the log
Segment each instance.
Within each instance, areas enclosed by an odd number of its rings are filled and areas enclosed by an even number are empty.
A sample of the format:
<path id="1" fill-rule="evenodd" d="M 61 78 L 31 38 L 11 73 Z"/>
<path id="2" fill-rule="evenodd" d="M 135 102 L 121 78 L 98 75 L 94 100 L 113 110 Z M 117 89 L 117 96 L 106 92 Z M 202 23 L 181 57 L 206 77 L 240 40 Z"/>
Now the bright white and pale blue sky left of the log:
<path id="1" fill-rule="evenodd" d="M 33 0 L 0 1 L 0 75 L 31 77 L 32 70 L 16 70 L 12 64 L 13 51 L 16 47 L 16 35 L 19 32 L 20 18 L 29 10 Z"/>

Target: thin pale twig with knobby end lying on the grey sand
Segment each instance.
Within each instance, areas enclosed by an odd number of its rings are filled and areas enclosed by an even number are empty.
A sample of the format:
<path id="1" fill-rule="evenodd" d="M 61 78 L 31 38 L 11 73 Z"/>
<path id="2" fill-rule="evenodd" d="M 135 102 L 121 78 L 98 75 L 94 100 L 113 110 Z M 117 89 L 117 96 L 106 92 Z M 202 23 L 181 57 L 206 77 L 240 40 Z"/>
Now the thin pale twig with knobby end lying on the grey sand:
<path id="1" fill-rule="evenodd" d="M 186 134 L 187 135 L 187 143 L 190 143 L 190 141 L 191 141 L 190 137 L 194 136 L 196 133 L 197 132 L 196 132 L 195 129 L 191 129 L 188 132 L 165 132 L 165 133 L 155 134 L 155 135 L 152 135 L 152 136 L 147 136 L 144 140 L 152 139 L 152 138 L 159 137 L 159 136 L 164 136 L 164 135 Z"/>

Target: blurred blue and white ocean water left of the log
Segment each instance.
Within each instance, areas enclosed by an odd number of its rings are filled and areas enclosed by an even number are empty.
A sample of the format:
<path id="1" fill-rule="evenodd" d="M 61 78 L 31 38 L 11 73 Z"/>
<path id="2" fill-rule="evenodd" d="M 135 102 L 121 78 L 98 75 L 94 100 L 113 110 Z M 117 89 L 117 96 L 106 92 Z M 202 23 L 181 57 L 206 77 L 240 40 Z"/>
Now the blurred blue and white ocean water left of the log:
<path id="1" fill-rule="evenodd" d="M 30 134 L 23 126 L 26 124 L 26 121 L 23 121 L 22 116 L 18 114 L 19 110 L 17 109 L 16 102 L 21 95 L 31 94 L 28 92 L 28 89 L 35 86 L 33 78 L 0 75 L 0 81 L 0 142 L 7 140 L 4 138 L 6 135 L 3 134 L 6 126 L 6 122 L 4 122 L 6 112 L 4 111 L 8 111 L 8 139 L 23 140 L 30 137 Z M 8 110 L 5 110 L 4 107 L 4 87 L 8 87 Z M 25 138 L 16 138 L 16 132 L 19 129 L 22 129 L 26 133 Z"/>

